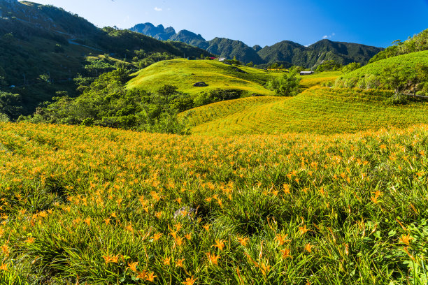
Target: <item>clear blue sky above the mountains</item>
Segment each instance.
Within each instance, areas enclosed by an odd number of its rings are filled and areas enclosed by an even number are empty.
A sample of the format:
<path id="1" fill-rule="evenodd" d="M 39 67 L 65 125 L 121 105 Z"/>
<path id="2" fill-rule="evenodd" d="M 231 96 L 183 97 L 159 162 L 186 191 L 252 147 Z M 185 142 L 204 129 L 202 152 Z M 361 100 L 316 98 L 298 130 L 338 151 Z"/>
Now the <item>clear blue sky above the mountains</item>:
<path id="1" fill-rule="evenodd" d="M 206 40 L 252 45 L 331 41 L 387 47 L 428 29 L 428 0 L 32 0 L 122 29 L 152 22 L 188 29 Z"/>

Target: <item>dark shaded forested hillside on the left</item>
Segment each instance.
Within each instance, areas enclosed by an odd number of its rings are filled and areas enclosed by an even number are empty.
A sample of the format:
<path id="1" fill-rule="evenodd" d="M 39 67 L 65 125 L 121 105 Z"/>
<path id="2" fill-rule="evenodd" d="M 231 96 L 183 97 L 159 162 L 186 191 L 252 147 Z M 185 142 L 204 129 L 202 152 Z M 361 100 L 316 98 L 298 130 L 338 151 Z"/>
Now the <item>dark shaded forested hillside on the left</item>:
<path id="1" fill-rule="evenodd" d="M 137 56 L 136 52 L 143 55 Z M 183 54 L 209 55 L 185 43 L 157 41 L 127 30 L 99 29 L 55 6 L 0 0 L 0 92 L 18 94 L 13 102 L 0 96 L 0 113 L 16 119 L 32 114 L 39 104 L 52 101 L 52 97 L 58 96 L 56 92 L 78 96 L 72 79 L 78 74 L 99 75 L 87 72 L 87 59 L 108 53 L 110 60 L 104 64 L 115 68 L 120 62 L 135 71 L 140 61 L 151 54 L 160 54 L 159 59 L 166 55 L 171 58 Z M 41 79 L 41 75 L 47 75 L 49 82 Z M 15 88 L 10 88 L 11 85 Z M 10 103 L 19 111 L 8 112 L 3 105 Z"/>

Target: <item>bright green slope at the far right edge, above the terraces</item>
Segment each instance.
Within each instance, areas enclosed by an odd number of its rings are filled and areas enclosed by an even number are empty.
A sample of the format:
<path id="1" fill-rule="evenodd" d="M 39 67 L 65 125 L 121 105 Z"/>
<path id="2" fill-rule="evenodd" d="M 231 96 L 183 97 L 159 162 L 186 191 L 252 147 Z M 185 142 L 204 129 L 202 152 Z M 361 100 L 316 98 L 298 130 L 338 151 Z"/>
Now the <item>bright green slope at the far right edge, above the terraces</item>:
<path id="1" fill-rule="evenodd" d="M 380 75 L 383 68 L 394 65 L 404 67 L 406 69 L 413 69 L 416 64 L 428 64 L 428 50 L 403 54 L 397 57 L 390 57 L 388 59 L 381 59 L 380 61 L 373 62 L 373 64 L 367 64 L 362 68 L 346 73 L 342 78 L 362 78 L 367 74 Z"/>

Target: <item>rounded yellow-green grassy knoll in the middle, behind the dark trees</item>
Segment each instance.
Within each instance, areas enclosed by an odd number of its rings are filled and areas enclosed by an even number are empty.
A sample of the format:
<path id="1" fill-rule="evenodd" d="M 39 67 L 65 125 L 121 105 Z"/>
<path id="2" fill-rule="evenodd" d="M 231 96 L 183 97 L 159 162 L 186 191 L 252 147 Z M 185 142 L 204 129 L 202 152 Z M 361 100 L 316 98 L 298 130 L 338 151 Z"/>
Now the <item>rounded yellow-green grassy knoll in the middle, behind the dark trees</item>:
<path id="1" fill-rule="evenodd" d="M 273 76 L 281 73 L 257 68 L 239 66 L 242 71 L 232 70 L 231 66 L 219 61 L 173 59 L 152 64 L 136 73 L 136 78 L 128 83 L 129 88 L 142 88 L 155 91 L 165 84 L 175 85 L 180 92 L 191 95 L 213 89 L 241 89 L 246 94 L 273 95 L 262 85 Z M 193 87 L 194 83 L 204 81 L 208 87 Z"/>

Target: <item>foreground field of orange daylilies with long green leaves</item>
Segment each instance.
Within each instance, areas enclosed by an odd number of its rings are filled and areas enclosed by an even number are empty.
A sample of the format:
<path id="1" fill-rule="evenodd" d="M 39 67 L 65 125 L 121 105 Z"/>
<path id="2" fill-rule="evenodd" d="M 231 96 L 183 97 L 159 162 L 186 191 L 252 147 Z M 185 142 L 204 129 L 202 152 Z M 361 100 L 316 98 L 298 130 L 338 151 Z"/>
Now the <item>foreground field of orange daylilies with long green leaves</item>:
<path id="1" fill-rule="evenodd" d="M 427 142 L 1 123 L 1 284 L 427 284 Z"/>

